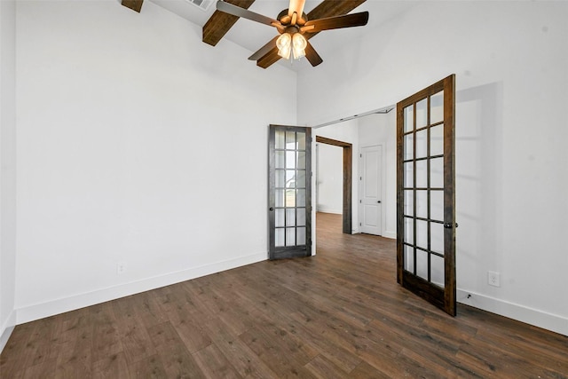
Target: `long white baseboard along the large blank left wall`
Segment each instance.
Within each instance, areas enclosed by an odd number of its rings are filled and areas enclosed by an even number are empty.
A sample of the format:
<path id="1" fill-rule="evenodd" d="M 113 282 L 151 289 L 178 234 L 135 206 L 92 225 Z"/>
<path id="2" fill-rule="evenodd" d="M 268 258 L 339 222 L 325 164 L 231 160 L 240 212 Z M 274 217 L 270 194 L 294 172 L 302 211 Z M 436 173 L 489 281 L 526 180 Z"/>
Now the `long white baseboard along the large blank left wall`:
<path id="1" fill-rule="evenodd" d="M 43 319 L 55 314 L 74 311 L 86 306 L 104 303 L 124 296 L 130 296 L 145 292 L 154 288 L 170 286 L 185 280 L 192 280 L 201 276 L 216 272 L 231 270 L 243 265 L 250 265 L 264 261 L 268 258 L 267 253 L 257 253 L 245 257 L 237 257 L 211 265 L 203 265 L 178 272 L 170 272 L 161 276 L 133 281 L 111 288 L 102 288 L 96 291 L 52 300 L 42 304 L 33 304 L 16 310 L 17 324 Z"/>

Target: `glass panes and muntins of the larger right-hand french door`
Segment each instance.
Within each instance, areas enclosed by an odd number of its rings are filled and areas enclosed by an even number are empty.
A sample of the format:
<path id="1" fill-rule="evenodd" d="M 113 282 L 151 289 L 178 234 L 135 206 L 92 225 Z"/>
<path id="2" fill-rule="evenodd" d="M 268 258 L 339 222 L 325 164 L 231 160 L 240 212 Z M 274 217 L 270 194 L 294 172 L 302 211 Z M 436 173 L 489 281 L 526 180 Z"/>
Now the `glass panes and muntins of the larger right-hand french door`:
<path id="1" fill-rule="evenodd" d="M 444 288 L 444 91 L 405 107 L 403 120 L 403 267 Z"/>

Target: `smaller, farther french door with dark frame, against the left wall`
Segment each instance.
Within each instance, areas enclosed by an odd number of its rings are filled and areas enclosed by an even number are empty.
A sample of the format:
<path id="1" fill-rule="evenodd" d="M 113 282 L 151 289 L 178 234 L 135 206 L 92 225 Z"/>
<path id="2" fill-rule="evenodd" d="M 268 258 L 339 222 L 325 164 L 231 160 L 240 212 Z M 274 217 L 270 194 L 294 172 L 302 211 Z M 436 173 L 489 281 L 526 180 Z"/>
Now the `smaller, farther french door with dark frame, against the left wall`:
<path id="1" fill-rule="evenodd" d="M 312 129 L 270 125 L 269 259 L 312 255 Z"/>

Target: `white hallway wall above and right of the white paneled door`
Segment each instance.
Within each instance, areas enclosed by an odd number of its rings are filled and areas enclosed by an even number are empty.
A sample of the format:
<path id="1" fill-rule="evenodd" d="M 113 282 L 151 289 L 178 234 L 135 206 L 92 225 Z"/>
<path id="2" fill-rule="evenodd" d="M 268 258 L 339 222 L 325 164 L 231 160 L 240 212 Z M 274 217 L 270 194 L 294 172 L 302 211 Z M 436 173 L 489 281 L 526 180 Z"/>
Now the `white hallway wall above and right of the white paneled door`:
<path id="1" fill-rule="evenodd" d="M 368 114 L 358 121 L 359 148 L 383 146 L 382 235 L 397 238 L 397 113 Z"/>

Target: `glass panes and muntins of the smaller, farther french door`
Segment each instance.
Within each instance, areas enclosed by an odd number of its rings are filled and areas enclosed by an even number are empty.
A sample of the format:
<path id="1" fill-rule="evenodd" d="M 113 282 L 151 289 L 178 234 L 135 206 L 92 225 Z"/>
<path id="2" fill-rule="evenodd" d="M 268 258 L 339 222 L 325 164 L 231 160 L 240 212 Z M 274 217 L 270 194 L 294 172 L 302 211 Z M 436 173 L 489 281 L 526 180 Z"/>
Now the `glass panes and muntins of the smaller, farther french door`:
<path id="1" fill-rule="evenodd" d="M 306 245 L 306 133 L 275 130 L 274 247 Z"/>

